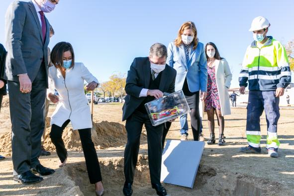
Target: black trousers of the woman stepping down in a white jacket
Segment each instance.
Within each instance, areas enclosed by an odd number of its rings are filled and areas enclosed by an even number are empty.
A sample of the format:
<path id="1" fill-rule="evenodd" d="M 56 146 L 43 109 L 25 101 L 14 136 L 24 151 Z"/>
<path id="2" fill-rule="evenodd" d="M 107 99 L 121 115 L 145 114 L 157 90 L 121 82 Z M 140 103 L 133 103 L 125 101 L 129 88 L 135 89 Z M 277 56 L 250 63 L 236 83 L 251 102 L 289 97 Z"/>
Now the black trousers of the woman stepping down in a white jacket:
<path id="1" fill-rule="evenodd" d="M 56 124 L 52 124 L 51 127 L 50 138 L 56 147 L 56 152 L 61 162 L 64 162 L 67 158 L 67 150 L 62 139 L 62 132 L 69 122 L 70 120 L 65 121 L 62 127 L 57 126 Z M 82 142 L 90 183 L 95 184 L 101 181 L 102 177 L 97 153 L 91 138 L 91 128 L 79 129 L 79 134 Z"/>

